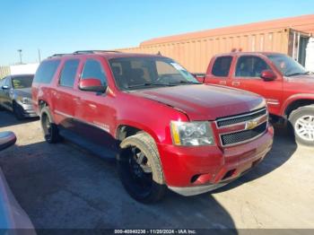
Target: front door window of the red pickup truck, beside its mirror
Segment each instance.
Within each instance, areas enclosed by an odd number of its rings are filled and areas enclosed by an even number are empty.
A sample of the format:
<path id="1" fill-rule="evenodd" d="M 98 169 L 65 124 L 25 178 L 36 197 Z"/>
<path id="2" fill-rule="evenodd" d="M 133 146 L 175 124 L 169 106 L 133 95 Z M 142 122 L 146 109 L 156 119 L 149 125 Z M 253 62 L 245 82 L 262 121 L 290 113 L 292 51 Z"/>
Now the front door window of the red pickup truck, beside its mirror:
<path id="1" fill-rule="evenodd" d="M 240 57 L 235 75 L 237 77 L 260 77 L 263 70 L 270 69 L 264 59 L 260 57 Z"/>

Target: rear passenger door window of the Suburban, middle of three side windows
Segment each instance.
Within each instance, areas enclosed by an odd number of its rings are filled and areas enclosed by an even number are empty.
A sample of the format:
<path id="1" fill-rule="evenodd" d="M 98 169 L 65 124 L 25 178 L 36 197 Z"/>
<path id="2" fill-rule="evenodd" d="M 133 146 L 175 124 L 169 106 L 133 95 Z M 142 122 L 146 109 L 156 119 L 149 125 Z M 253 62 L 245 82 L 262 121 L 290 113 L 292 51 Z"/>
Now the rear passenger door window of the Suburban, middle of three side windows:
<path id="1" fill-rule="evenodd" d="M 61 86 L 73 87 L 79 64 L 80 60 L 78 59 L 70 59 L 65 61 L 65 65 L 62 69 L 59 80 L 59 84 Z"/>

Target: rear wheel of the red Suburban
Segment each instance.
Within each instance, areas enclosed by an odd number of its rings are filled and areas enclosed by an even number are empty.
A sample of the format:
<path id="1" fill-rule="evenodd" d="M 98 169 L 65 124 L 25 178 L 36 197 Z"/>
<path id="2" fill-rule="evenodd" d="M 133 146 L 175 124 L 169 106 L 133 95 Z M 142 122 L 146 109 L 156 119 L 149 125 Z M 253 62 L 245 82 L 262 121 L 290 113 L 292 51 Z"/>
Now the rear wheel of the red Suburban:
<path id="1" fill-rule="evenodd" d="M 40 123 L 45 136 L 45 140 L 49 144 L 56 144 L 62 140 L 61 136 L 59 135 L 57 125 L 53 122 L 50 114 L 50 109 L 48 107 L 44 107 L 41 109 Z"/>

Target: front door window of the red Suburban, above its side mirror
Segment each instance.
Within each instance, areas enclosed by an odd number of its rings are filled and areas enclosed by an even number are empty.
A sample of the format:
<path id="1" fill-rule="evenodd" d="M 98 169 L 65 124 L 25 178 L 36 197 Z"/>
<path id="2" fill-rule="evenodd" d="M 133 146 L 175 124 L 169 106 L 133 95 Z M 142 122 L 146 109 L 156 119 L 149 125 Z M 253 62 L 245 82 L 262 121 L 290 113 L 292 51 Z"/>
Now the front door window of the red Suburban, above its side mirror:
<path id="1" fill-rule="evenodd" d="M 86 60 L 86 63 L 83 67 L 83 73 L 81 79 L 86 78 L 96 78 L 101 81 L 102 84 L 107 85 L 106 74 L 100 65 L 100 62 L 94 59 Z"/>

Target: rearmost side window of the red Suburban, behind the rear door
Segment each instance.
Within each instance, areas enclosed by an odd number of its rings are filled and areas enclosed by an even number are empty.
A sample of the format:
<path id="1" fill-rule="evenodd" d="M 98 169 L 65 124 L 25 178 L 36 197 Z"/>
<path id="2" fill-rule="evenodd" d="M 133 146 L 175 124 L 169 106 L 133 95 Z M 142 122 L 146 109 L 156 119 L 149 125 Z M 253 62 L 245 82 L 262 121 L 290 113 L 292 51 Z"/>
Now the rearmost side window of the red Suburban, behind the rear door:
<path id="1" fill-rule="evenodd" d="M 60 60 L 48 60 L 39 65 L 35 74 L 34 83 L 50 83 L 57 71 Z"/>

